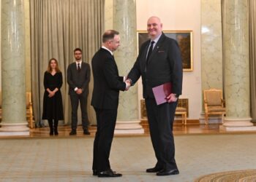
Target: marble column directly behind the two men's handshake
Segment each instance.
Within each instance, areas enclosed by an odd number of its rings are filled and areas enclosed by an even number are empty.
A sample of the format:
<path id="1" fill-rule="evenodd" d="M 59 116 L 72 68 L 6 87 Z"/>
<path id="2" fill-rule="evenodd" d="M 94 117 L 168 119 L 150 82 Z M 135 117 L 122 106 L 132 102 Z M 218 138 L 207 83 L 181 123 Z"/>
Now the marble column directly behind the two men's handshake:
<path id="1" fill-rule="evenodd" d="M 113 29 L 119 31 L 121 46 L 114 53 L 119 74 L 126 76 L 137 58 L 136 1 L 113 1 Z M 143 133 L 138 116 L 138 87 L 121 92 L 115 133 Z"/>

